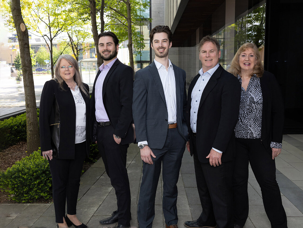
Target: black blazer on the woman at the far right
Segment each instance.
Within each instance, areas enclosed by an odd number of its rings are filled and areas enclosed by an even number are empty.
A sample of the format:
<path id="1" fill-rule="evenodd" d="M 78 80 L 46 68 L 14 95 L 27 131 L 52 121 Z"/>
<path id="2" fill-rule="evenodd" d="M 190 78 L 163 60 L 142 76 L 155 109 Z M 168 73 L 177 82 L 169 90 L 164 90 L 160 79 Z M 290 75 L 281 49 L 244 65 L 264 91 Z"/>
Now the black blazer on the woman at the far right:
<path id="1" fill-rule="evenodd" d="M 269 154 L 270 143 L 282 142 L 284 124 L 284 105 L 281 89 L 275 75 L 264 71 L 260 77 L 263 97 L 261 140 Z"/>

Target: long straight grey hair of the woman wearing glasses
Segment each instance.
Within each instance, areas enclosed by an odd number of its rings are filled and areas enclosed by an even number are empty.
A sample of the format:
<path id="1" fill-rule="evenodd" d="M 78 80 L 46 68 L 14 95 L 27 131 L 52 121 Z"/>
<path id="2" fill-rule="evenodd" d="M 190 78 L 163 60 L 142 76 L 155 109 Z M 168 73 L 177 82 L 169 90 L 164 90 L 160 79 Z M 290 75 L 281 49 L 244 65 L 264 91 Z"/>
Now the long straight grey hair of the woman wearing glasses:
<path id="1" fill-rule="evenodd" d="M 88 91 L 86 90 L 86 88 L 84 87 L 83 85 L 83 82 L 82 82 L 82 78 L 81 78 L 81 75 L 80 75 L 80 72 L 79 72 L 79 66 L 78 66 L 78 62 L 75 60 L 75 58 L 73 58 L 71 55 L 60 55 L 59 58 L 57 59 L 57 64 L 56 64 L 56 67 L 55 67 L 55 78 L 53 78 L 53 80 L 57 80 L 58 81 L 58 84 L 59 84 L 59 87 L 62 89 L 62 90 L 65 90 L 63 88 L 63 78 L 61 77 L 60 75 L 60 61 L 62 59 L 65 59 L 66 61 L 68 61 L 69 64 L 71 64 L 72 66 L 74 66 L 75 68 L 75 75 L 74 75 L 74 81 L 77 83 L 78 85 L 78 88 L 87 96 L 89 97 L 89 93 Z"/>

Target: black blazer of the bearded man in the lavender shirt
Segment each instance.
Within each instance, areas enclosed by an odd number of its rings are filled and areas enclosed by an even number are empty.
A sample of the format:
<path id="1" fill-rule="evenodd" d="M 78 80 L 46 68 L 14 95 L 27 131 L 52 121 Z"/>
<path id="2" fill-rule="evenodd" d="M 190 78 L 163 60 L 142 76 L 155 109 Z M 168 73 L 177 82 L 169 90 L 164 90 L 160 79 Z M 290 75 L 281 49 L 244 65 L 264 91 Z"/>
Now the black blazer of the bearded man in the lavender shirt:
<path id="1" fill-rule="evenodd" d="M 96 141 L 97 122 L 95 116 L 95 85 L 101 71 L 99 70 L 92 91 L 90 101 L 90 125 L 92 127 L 92 141 Z M 114 127 L 114 134 L 120 136 L 121 144 L 129 144 L 135 141 L 135 132 L 132 127 L 132 93 L 134 83 L 134 71 L 130 66 L 120 62 L 114 62 L 108 71 L 102 87 L 102 99 L 109 121 Z"/>

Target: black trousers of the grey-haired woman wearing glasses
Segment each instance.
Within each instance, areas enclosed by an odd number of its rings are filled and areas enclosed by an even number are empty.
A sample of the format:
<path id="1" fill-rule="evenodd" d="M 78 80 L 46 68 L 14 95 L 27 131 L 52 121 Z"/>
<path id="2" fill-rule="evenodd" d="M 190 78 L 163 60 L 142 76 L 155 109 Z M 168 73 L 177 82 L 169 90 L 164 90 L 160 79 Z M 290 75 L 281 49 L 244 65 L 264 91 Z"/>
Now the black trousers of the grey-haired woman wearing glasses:
<path id="1" fill-rule="evenodd" d="M 55 207 L 56 223 L 63 223 L 65 216 L 65 202 L 67 213 L 76 214 L 80 175 L 86 157 L 86 144 L 75 144 L 75 159 L 48 160 L 52 174 L 53 201 Z"/>

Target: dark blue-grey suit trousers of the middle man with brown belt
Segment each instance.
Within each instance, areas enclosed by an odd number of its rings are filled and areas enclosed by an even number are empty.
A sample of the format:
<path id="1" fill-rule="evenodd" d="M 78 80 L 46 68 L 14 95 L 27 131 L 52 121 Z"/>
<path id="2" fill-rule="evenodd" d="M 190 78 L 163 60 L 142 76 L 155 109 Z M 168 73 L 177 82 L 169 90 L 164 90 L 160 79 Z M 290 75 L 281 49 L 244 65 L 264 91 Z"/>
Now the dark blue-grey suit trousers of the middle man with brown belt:
<path id="1" fill-rule="evenodd" d="M 180 173 L 185 139 L 177 128 L 168 129 L 162 149 L 153 149 L 156 158 L 151 157 L 154 164 L 143 162 L 142 183 L 138 200 L 138 222 L 140 228 L 151 228 L 155 217 L 155 197 L 161 173 L 163 178 L 162 208 L 166 225 L 178 223 L 177 182 Z"/>

